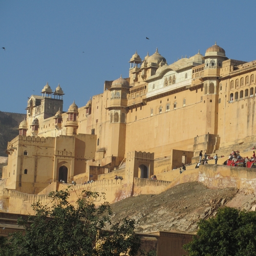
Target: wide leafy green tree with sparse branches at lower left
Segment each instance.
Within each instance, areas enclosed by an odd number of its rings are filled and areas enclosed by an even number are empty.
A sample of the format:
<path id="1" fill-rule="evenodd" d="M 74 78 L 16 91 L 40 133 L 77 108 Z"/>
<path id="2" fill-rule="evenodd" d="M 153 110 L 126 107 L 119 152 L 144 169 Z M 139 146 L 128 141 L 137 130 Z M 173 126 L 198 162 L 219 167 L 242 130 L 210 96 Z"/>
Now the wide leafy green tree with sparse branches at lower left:
<path id="1" fill-rule="evenodd" d="M 99 193 L 83 191 L 75 205 L 68 202 L 69 190 L 49 196 L 53 206 L 34 203 L 35 216 L 18 220 L 25 233 L 14 233 L 2 241 L 0 255 L 137 255 L 140 238 L 134 232 L 134 220 L 111 225 L 110 204 L 95 205 Z M 111 232 L 104 230 L 106 224 L 111 225 Z"/>

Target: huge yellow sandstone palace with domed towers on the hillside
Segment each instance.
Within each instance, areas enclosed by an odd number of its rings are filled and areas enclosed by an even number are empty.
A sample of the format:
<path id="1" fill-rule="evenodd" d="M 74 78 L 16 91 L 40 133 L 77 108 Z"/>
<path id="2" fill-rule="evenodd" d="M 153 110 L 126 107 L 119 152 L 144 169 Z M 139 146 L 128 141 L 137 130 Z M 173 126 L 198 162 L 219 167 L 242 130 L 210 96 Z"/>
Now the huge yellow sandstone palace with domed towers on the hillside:
<path id="1" fill-rule="evenodd" d="M 129 77 L 105 81 L 101 94 L 67 112 L 59 85 L 32 95 L 0 190 L 38 194 L 60 180 L 115 175 L 132 184 L 255 135 L 256 61 L 229 59 L 215 44 L 170 65 L 158 49 L 129 62 Z"/>

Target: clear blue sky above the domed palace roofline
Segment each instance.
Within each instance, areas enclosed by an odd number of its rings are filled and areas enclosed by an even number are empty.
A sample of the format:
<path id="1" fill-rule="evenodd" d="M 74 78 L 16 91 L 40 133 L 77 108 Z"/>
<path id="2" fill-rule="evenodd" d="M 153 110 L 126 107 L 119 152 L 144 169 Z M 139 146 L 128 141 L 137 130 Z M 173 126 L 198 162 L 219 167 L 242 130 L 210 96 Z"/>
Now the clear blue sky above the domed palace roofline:
<path id="1" fill-rule="evenodd" d="M 0 111 L 26 113 L 47 82 L 64 91 L 63 111 L 83 106 L 105 80 L 129 76 L 136 50 L 143 59 L 158 47 L 170 64 L 217 41 L 254 60 L 255 13 L 256 1 L 0 0 Z"/>

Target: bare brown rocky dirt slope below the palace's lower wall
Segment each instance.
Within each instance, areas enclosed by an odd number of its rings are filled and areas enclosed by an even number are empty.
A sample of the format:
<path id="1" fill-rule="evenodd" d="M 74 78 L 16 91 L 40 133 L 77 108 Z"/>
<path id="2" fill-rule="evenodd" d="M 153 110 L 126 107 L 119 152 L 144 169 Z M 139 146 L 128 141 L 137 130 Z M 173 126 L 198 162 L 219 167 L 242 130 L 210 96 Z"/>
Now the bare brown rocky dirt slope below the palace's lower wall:
<path id="1" fill-rule="evenodd" d="M 136 231 L 196 232 L 200 218 L 214 216 L 236 197 L 235 188 L 209 189 L 199 182 L 177 185 L 159 195 L 140 195 L 112 204 L 113 222 L 136 220 Z"/>

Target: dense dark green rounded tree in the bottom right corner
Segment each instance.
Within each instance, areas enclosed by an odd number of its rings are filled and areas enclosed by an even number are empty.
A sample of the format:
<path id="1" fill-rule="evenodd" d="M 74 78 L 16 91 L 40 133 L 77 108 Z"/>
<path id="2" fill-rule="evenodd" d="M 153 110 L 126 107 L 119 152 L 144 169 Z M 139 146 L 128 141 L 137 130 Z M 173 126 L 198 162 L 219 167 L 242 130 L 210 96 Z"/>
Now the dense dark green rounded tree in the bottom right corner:
<path id="1" fill-rule="evenodd" d="M 189 256 L 254 256 L 256 212 L 219 208 L 215 218 L 199 221 L 197 236 L 183 248 Z"/>

